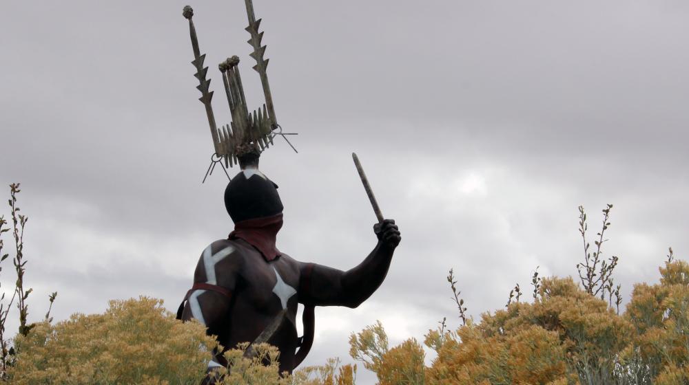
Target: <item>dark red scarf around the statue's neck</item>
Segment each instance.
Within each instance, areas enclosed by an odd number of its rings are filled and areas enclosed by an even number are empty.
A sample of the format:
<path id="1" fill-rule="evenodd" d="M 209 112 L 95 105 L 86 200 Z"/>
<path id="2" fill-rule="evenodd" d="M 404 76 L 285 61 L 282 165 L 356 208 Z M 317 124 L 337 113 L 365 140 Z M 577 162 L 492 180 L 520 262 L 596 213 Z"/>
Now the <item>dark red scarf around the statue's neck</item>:
<path id="1" fill-rule="evenodd" d="M 266 261 L 273 261 L 280 256 L 280 250 L 275 247 L 276 236 L 282 228 L 282 212 L 272 217 L 247 219 L 234 224 L 234 231 L 229 233 L 229 239 L 243 239 L 254 246 Z"/>

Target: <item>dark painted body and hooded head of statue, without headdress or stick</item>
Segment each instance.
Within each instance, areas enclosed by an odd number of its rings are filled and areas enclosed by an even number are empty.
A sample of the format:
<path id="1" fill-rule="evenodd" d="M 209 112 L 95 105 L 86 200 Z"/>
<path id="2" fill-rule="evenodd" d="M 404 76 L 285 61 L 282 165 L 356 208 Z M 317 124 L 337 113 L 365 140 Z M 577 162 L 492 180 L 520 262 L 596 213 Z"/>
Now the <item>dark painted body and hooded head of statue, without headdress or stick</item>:
<path id="1" fill-rule="evenodd" d="M 247 167 L 229 182 L 225 206 L 235 230 L 203 251 L 181 318 L 205 324 L 224 347 L 273 344 L 280 350 L 280 371 L 291 372 L 306 355 L 296 349 L 311 344 L 297 338 L 297 304 L 310 309 L 304 313 L 305 334 L 312 338 L 313 306 L 358 307 L 384 280 L 401 239 L 395 221 L 376 223 L 376 247 L 342 272 L 297 261 L 276 248 L 282 203 L 275 184 L 257 168 Z M 226 364 L 218 354 L 209 369 Z"/>

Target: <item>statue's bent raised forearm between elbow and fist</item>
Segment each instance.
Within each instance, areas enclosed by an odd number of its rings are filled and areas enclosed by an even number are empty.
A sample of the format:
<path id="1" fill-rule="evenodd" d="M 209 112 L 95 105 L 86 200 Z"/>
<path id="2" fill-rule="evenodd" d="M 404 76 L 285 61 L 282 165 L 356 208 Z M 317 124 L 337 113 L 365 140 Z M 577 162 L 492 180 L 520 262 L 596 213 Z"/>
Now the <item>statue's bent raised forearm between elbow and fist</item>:
<path id="1" fill-rule="evenodd" d="M 393 251 L 392 248 L 379 241 L 376 248 L 362 263 L 345 272 L 341 281 L 344 297 L 342 299 L 345 302 L 343 305 L 358 307 L 373 292 L 376 292 L 387 275 Z"/>

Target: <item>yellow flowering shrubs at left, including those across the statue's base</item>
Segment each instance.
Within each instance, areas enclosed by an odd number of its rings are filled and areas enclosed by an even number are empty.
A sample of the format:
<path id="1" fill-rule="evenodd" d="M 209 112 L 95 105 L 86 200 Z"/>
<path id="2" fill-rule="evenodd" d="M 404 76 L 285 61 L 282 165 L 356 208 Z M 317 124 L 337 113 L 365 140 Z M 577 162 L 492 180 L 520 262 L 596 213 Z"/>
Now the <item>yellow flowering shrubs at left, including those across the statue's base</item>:
<path id="1" fill-rule="evenodd" d="M 17 335 L 11 384 L 200 384 L 217 342 L 198 322 L 180 322 L 163 301 L 112 300 L 104 314 L 74 314 L 50 325 L 36 324 L 28 336 Z M 353 385 L 356 366 L 325 366 L 279 372 L 276 347 L 260 344 L 256 355 L 243 356 L 246 346 L 230 349 L 220 385 Z"/>

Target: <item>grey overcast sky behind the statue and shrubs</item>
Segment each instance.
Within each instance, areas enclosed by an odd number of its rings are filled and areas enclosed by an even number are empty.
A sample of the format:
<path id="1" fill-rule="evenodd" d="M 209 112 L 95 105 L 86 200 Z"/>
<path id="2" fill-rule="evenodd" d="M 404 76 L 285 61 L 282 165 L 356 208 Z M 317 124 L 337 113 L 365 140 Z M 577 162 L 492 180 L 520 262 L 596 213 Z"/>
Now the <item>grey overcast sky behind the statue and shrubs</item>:
<path id="1" fill-rule="evenodd" d="M 174 310 L 200 252 L 232 230 L 227 178 L 195 89 L 186 1 L 6 1 L 0 23 L 0 183 L 21 182 L 30 320 L 100 312 L 112 298 Z M 216 64 L 240 56 L 249 108 L 263 103 L 243 1 L 197 1 L 218 124 Z M 689 252 L 689 3 L 254 0 L 284 141 L 261 157 L 280 186 L 278 247 L 340 269 L 373 248 L 356 151 L 402 243 L 358 309 L 316 309 L 307 364 L 339 356 L 381 320 L 391 343 L 444 316 L 454 268 L 469 314 L 520 283 L 575 275 L 577 206 L 625 299 L 658 281 L 668 246 Z M 236 173 L 236 170 L 232 170 Z M 4 197 L 9 188 L 0 190 Z M 685 198 L 683 198 L 685 197 Z M 0 211 L 6 216 L 7 207 Z M 6 238 L 6 245 L 10 243 Z M 11 245 L 11 243 L 10 243 Z M 4 289 L 14 282 L 3 263 Z M 15 326 L 12 326 L 15 325 Z M 12 330 L 16 322 L 10 325 Z M 366 382 L 370 375 L 362 375 Z"/>

